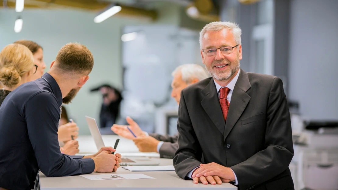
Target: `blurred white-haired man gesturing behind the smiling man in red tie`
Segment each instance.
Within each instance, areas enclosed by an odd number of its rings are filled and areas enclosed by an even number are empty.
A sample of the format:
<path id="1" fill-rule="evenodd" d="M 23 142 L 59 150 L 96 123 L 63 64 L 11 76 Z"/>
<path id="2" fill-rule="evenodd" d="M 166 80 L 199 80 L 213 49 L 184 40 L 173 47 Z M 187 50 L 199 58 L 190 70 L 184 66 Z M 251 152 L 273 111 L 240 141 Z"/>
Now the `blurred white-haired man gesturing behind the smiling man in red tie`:
<path id="1" fill-rule="evenodd" d="M 192 85 L 200 80 L 208 78 L 208 72 L 200 65 L 185 64 L 178 66 L 172 72 L 172 92 L 171 97 L 175 98 L 179 103 L 180 93 L 182 89 L 189 85 Z M 127 139 L 133 139 L 137 147 L 141 152 L 159 152 L 161 158 L 174 158 L 174 154 L 178 148 L 177 138 L 178 134 L 174 136 L 160 135 L 160 134 L 148 134 L 143 132 L 139 125 L 130 117 L 126 118 L 128 126 L 135 133 L 135 138 L 124 125 L 113 125 L 112 130 L 114 133 L 125 137 Z"/>

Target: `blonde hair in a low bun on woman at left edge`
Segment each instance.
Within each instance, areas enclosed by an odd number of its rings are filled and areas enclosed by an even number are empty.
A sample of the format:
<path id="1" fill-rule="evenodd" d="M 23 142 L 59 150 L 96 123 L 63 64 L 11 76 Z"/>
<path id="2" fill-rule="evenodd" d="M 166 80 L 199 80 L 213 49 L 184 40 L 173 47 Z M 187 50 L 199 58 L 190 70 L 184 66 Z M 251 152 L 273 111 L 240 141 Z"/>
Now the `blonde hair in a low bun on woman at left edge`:
<path id="1" fill-rule="evenodd" d="M 33 67 L 33 54 L 24 45 L 9 44 L 0 52 L 0 82 L 5 87 L 17 86 Z"/>

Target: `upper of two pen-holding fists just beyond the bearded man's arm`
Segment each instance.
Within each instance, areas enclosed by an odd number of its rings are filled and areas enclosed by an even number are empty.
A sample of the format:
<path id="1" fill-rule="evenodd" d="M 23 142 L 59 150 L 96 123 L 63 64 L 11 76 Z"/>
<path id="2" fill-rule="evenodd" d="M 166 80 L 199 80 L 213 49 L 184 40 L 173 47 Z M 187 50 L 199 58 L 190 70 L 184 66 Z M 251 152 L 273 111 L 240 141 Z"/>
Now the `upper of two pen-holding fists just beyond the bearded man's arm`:
<path id="1" fill-rule="evenodd" d="M 64 125 L 60 125 L 57 130 L 57 138 L 59 141 L 67 142 L 72 140 L 72 135 L 74 139 L 77 138 L 79 127 L 76 123 L 66 123 Z"/>

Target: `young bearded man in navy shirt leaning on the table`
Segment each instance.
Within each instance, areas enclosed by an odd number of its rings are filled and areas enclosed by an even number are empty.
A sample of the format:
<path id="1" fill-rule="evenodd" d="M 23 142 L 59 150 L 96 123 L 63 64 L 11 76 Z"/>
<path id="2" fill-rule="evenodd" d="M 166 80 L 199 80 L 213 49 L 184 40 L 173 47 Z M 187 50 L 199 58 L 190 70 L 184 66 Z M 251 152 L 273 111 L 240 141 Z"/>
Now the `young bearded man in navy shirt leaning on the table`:
<path id="1" fill-rule="evenodd" d="M 121 155 L 103 147 L 95 155 L 68 156 L 57 139 L 62 103 L 70 103 L 89 79 L 92 53 L 66 44 L 48 73 L 11 92 L 0 108 L 0 190 L 32 189 L 39 169 L 49 177 L 116 171 Z"/>

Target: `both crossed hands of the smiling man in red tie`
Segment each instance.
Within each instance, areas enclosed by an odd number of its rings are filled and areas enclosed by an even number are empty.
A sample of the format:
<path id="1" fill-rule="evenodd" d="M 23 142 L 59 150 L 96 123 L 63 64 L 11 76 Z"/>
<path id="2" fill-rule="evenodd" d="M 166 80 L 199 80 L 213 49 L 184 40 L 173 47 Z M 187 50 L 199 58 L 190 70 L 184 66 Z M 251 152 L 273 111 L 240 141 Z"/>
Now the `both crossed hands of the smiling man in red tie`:
<path id="1" fill-rule="evenodd" d="M 216 163 L 200 164 L 199 168 L 193 171 L 192 179 L 194 184 L 198 182 L 204 185 L 220 185 L 235 181 L 235 175 L 232 169 L 224 167 Z"/>

